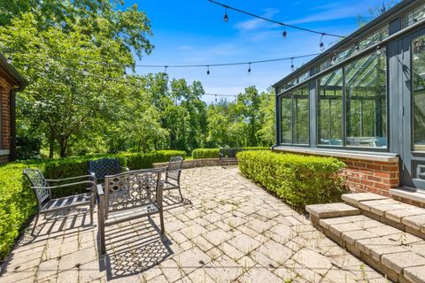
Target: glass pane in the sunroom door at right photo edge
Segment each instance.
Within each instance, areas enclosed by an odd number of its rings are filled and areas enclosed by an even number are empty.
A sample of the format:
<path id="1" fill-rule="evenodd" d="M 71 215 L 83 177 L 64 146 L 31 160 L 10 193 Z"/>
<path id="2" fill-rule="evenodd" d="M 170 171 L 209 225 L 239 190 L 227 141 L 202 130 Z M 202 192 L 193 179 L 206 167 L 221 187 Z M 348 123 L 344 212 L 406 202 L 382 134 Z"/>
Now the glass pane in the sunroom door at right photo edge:
<path id="1" fill-rule="evenodd" d="M 425 36 L 413 41 L 413 150 L 425 151 Z"/>

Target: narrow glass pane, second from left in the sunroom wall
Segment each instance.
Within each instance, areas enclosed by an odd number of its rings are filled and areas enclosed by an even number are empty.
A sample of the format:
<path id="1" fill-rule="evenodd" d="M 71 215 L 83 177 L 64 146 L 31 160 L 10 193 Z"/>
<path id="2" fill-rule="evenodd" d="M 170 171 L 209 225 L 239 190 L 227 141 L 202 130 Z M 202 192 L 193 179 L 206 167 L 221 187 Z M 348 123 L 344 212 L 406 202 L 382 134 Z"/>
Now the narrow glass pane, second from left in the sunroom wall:
<path id="1" fill-rule="evenodd" d="M 308 86 L 298 88 L 293 93 L 294 141 L 296 144 L 309 144 L 309 99 Z"/>

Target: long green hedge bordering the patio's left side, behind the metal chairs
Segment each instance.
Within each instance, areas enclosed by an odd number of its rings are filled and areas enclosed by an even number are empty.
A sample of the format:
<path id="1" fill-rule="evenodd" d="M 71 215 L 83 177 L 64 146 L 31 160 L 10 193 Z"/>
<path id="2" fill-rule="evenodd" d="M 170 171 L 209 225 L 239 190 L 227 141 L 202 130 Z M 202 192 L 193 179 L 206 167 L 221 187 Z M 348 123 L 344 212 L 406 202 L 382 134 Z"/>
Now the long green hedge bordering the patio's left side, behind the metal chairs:
<path id="1" fill-rule="evenodd" d="M 39 168 L 47 179 L 63 179 L 86 175 L 89 160 L 102 157 L 117 157 L 121 165 L 130 170 L 151 168 L 152 164 L 166 162 L 170 157 L 186 157 L 185 151 L 160 150 L 146 154 L 124 153 L 117 155 L 97 155 L 68 157 L 53 160 L 30 160 L 0 165 L 0 262 L 9 253 L 27 218 L 35 213 L 35 195 L 22 170 L 27 167 Z M 70 187 L 53 190 L 54 197 L 86 192 L 84 187 Z"/>

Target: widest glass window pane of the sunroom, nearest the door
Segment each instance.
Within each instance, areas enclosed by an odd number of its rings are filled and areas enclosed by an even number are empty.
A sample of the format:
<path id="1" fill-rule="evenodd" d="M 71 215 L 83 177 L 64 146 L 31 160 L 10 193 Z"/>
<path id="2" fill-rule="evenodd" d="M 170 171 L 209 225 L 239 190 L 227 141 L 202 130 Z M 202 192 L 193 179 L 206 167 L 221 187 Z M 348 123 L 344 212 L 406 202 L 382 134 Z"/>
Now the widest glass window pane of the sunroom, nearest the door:
<path id="1" fill-rule="evenodd" d="M 385 52 L 383 52 L 385 54 Z M 347 142 L 387 147 L 386 57 L 375 52 L 345 67 Z"/>

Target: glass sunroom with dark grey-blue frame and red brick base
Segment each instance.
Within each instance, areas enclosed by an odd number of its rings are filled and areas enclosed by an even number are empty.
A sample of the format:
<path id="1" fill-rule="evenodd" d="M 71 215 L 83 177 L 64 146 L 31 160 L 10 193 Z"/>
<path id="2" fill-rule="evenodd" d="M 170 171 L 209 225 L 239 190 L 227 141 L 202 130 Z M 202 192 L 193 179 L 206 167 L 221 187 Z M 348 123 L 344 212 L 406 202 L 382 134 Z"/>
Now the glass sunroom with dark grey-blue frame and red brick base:
<path id="1" fill-rule="evenodd" d="M 401 2 L 274 88 L 274 150 L 340 158 L 353 191 L 425 199 L 425 1 Z"/>

